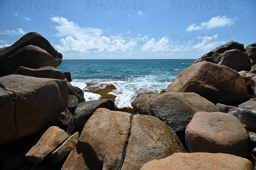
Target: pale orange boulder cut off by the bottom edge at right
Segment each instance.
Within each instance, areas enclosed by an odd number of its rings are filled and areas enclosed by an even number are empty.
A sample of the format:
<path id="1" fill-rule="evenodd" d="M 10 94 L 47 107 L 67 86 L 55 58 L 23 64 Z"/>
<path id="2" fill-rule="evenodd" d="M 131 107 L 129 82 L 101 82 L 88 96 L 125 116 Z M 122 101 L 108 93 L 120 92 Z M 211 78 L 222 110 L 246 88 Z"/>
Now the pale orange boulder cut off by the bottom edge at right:
<path id="1" fill-rule="evenodd" d="M 255 170 L 245 158 L 224 153 L 174 153 L 149 161 L 141 170 Z"/>

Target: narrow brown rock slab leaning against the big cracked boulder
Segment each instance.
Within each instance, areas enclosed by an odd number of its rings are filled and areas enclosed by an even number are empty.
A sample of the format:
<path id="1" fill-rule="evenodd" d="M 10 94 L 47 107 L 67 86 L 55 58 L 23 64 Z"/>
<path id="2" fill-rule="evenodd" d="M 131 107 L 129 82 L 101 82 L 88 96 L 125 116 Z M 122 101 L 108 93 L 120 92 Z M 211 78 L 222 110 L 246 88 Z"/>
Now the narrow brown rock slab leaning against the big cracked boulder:
<path id="1" fill-rule="evenodd" d="M 64 159 L 66 156 L 68 156 L 68 154 L 76 146 L 78 138 L 79 138 L 79 133 L 76 132 L 73 135 L 71 135 L 69 138 L 67 138 L 67 140 L 64 141 L 64 143 L 61 144 L 60 147 L 58 147 L 55 151 L 53 151 L 49 155 L 49 158 L 50 158 L 52 164 L 58 164 L 62 159 Z"/>

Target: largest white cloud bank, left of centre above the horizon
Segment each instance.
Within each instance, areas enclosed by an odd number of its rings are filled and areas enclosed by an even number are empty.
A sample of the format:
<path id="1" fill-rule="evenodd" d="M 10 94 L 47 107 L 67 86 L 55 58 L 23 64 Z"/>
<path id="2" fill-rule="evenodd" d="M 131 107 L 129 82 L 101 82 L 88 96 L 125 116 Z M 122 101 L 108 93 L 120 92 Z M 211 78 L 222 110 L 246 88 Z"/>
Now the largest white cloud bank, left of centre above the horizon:
<path id="1" fill-rule="evenodd" d="M 55 48 L 62 53 L 129 51 L 136 45 L 127 35 L 103 35 L 102 29 L 81 27 L 64 17 L 50 20 L 59 24 L 55 29 L 63 38 Z"/>

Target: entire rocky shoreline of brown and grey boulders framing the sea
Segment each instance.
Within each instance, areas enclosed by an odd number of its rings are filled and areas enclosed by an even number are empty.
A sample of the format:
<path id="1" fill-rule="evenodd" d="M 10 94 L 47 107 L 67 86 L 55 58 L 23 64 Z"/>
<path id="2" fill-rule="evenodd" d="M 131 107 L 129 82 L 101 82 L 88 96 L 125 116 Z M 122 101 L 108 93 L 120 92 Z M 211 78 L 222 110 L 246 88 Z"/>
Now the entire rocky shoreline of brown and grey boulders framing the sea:
<path id="1" fill-rule="evenodd" d="M 85 101 L 61 59 L 36 32 L 0 49 L 3 170 L 255 170 L 256 43 L 219 46 L 133 108 L 111 84 Z"/>

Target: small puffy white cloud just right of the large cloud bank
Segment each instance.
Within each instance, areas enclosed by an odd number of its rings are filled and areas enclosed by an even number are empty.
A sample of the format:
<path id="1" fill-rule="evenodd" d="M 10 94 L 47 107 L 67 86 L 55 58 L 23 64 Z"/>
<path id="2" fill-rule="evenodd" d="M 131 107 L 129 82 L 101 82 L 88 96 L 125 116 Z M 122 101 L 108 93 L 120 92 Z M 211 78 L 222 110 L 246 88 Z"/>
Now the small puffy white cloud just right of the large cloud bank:
<path id="1" fill-rule="evenodd" d="M 152 51 L 152 52 L 167 51 L 169 48 L 168 43 L 169 43 L 169 39 L 166 37 L 163 37 L 159 41 L 156 41 L 154 38 L 152 38 L 142 46 L 141 50 Z"/>

